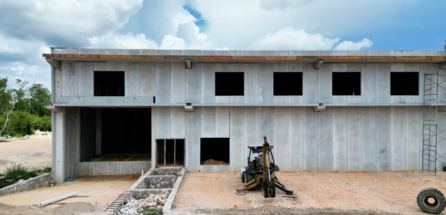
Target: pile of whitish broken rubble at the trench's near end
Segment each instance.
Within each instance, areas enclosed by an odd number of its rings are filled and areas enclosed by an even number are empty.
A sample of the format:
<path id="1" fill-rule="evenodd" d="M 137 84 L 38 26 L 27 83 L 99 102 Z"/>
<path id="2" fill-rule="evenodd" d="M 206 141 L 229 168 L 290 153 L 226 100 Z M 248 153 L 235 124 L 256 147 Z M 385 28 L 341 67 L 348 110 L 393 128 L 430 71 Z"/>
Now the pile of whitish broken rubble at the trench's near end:
<path id="1" fill-rule="evenodd" d="M 162 209 L 164 203 L 166 203 L 169 197 L 169 191 L 161 190 L 157 194 L 151 194 L 146 199 L 130 199 L 127 203 L 118 211 L 120 215 L 137 214 L 143 207 L 150 207 L 156 209 Z"/>

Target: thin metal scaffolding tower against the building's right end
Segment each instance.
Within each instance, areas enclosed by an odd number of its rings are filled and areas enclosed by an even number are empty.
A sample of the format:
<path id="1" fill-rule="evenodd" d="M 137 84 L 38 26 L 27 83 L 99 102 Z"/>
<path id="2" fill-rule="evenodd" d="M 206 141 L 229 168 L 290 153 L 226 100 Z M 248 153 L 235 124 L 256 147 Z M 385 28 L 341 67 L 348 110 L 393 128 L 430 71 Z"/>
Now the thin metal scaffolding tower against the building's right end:
<path id="1" fill-rule="evenodd" d="M 437 126 L 437 121 L 446 116 L 446 101 L 439 96 L 444 92 L 446 92 L 446 75 L 438 74 L 438 71 L 424 75 L 422 170 L 432 171 L 435 174 L 438 167 L 446 165 L 446 154 L 437 152 L 438 144 L 446 142 L 446 128 Z"/>

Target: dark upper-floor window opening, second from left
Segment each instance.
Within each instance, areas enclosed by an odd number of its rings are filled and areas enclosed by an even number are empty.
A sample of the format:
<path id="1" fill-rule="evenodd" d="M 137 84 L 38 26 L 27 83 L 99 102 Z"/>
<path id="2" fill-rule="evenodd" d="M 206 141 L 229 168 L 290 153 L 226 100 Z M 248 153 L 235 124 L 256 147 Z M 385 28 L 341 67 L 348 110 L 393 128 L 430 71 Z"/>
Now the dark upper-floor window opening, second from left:
<path id="1" fill-rule="evenodd" d="M 243 72 L 216 72 L 215 95 L 216 96 L 242 96 L 244 95 Z"/>

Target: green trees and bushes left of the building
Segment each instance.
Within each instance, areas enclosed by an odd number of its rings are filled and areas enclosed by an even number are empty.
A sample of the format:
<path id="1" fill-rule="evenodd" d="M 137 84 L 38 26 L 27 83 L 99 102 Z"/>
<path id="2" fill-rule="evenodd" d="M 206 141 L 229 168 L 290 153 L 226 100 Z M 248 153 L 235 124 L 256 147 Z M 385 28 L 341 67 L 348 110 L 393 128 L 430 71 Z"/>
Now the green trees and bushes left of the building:
<path id="1" fill-rule="evenodd" d="M 15 79 L 16 88 L 8 89 L 8 77 L 0 77 L 0 137 L 22 137 L 36 130 L 51 131 L 51 93 L 43 84 L 28 85 Z"/>

